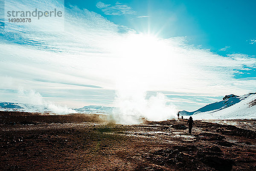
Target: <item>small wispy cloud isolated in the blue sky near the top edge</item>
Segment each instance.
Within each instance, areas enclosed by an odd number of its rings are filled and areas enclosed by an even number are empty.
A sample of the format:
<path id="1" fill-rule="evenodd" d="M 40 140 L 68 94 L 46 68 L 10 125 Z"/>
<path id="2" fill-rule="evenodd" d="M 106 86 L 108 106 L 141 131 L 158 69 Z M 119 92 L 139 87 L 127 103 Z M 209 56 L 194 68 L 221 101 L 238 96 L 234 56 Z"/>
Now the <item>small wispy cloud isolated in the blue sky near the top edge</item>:
<path id="1" fill-rule="evenodd" d="M 123 14 L 136 14 L 136 12 L 127 5 L 116 2 L 114 6 L 98 2 L 96 7 L 101 9 L 106 15 L 123 15 Z"/>

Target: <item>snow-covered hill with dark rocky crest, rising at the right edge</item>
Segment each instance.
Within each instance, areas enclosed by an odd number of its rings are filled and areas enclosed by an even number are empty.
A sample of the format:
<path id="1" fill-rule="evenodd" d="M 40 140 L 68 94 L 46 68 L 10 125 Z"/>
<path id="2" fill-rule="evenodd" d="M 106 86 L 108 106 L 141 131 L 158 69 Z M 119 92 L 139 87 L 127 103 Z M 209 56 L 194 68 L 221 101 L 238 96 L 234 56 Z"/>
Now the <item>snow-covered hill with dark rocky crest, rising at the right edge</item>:
<path id="1" fill-rule="evenodd" d="M 191 112 L 192 118 L 256 119 L 256 93 L 249 93 L 244 96 L 229 95 L 225 96 L 223 99 L 224 100 L 222 101 L 208 104 L 194 112 Z M 186 114 L 186 111 L 183 111 L 183 113 Z M 180 115 L 182 116 L 183 113 L 180 113 Z"/>

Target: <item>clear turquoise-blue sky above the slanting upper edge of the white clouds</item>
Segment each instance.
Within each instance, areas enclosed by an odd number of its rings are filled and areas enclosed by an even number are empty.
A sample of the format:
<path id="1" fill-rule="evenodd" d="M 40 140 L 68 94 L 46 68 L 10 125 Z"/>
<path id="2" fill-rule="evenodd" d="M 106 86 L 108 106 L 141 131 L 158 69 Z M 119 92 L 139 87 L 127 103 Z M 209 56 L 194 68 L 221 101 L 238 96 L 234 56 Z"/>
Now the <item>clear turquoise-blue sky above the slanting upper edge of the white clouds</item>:
<path id="1" fill-rule="evenodd" d="M 105 14 L 96 4 L 116 6 L 116 2 L 131 7 L 134 14 Z M 77 5 L 97 12 L 108 20 L 135 29 L 150 32 L 162 38 L 186 36 L 191 44 L 201 45 L 221 55 L 226 46 L 229 52 L 255 55 L 256 16 L 254 1 L 221 0 L 66 0 L 66 5 Z M 145 17 L 141 17 L 145 16 Z M 149 29 L 148 29 L 149 28 Z"/>

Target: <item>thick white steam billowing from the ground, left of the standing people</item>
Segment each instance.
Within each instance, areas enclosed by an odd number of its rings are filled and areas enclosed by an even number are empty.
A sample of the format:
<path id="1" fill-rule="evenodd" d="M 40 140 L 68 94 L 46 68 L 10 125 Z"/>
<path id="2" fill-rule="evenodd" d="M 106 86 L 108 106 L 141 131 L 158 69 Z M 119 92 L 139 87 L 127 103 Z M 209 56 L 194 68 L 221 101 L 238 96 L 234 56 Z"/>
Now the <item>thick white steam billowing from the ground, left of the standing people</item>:
<path id="1" fill-rule="evenodd" d="M 146 93 L 145 93 L 146 94 Z M 166 97 L 162 93 L 146 99 L 145 94 L 130 94 L 117 96 L 117 110 L 114 111 L 113 119 L 118 123 L 140 123 L 142 118 L 150 121 L 163 121 L 176 119 L 177 108 L 166 104 Z"/>

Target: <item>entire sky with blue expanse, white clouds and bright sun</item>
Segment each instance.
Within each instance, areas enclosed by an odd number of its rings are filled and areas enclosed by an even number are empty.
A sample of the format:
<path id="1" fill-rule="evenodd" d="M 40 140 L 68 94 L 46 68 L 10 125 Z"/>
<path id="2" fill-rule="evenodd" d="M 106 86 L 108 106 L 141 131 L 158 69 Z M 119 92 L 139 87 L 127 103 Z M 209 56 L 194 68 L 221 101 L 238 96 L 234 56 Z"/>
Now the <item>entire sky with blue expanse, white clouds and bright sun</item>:
<path id="1" fill-rule="evenodd" d="M 45 7 L 32 2 L 16 6 Z M 33 103 L 37 92 L 70 107 L 127 106 L 162 93 L 168 105 L 191 111 L 230 93 L 255 92 L 255 5 L 65 0 L 64 32 L 45 32 L 44 20 L 21 27 L 2 17 L 0 101 Z"/>

